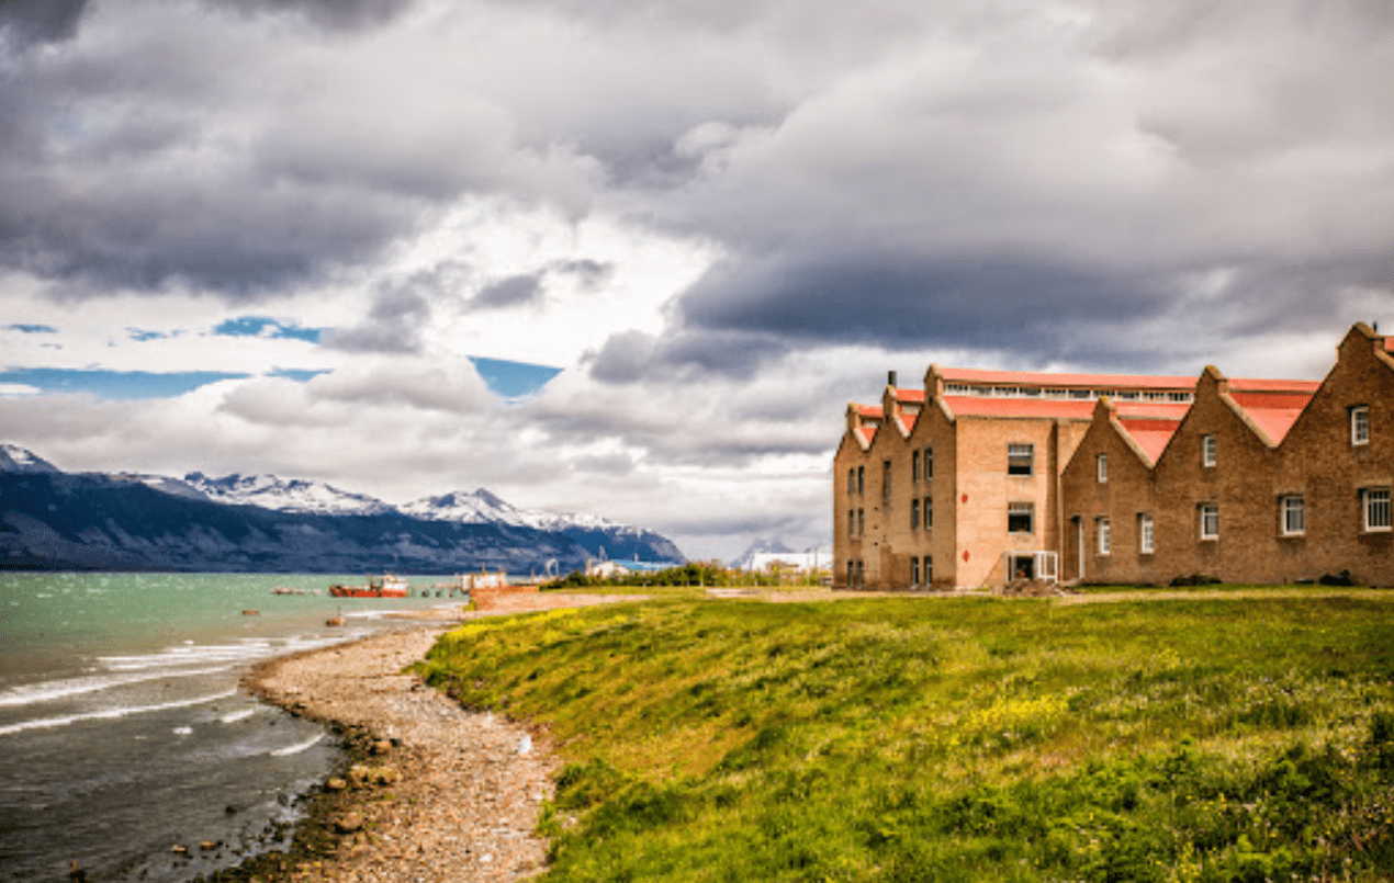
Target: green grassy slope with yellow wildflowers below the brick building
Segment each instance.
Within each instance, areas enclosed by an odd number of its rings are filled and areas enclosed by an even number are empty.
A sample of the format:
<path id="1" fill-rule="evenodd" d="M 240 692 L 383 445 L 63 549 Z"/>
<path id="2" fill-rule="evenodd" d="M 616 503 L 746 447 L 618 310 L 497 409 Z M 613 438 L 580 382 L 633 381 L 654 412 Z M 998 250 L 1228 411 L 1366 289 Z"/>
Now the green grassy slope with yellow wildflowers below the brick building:
<path id="1" fill-rule="evenodd" d="M 424 671 L 570 760 L 551 879 L 1374 879 L 1391 613 L 679 599 L 473 623 Z"/>

